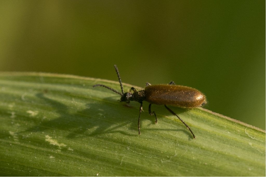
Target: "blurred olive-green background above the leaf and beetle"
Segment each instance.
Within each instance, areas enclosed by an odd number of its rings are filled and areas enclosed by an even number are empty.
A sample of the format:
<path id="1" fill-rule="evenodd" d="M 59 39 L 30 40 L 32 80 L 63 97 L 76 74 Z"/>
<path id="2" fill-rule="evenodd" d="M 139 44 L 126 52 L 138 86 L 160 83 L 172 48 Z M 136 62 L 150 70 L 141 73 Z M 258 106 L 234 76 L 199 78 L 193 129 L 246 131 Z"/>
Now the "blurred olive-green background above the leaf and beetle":
<path id="1" fill-rule="evenodd" d="M 0 1 L 0 70 L 205 93 L 265 130 L 265 1 Z"/>

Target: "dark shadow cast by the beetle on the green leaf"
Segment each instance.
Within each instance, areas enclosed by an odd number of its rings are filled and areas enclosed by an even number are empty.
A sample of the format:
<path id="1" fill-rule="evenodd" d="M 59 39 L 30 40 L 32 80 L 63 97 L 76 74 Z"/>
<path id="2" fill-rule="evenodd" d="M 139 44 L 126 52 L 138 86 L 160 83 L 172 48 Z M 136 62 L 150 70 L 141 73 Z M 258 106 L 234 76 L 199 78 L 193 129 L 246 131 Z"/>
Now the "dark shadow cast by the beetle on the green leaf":
<path id="1" fill-rule="evenodd" d="M 67 138 L 77 138 L 77 137 L 87 137 L 87 136 L 97 136 L 100 134 L 107 133 L 121 133 L 127 136 L 139 136 L 138 135 L 138 115 L 139 115 L 139 104 L 136 102 L 125 104 L 118 102 L 118 108 L 114 110 L 113 97 L 107 97 L 103 99 L 106 104 L 100 103 L 89 103 L 86 104 L 86 108 L 74 112 L 70 111 L 70 107 L 63 103 L 60 103 L 54 99 L 47 98 L 44 93 L 36 94 L 41 100 L 44 100 L 52 111 L 59 114 L 60 116 L 52 120 L 42 120 L 38 125 L 31 127 L 25 132 L 44 132 L 46 130 L 66 130 L 69 134 L 66 135 Z M 132 106 L 133 105 L 133 106 Z M 148 107 L 148 105 L 146 106 Z M 178 109 L 179 110 L 179 109 Z M 185 110 L 180 109 L 177 113 L 184 112 Z M 112 114 L 114 112 L 114 114 Z M 148 110 L 145 111 L 146 114 Z M 152 124 L 155 124 L 154 116 L 147 116 L 145 112 L 142 112 L 141 120 L 148 119 Z M 157 111 L 156 111 L 157 113 Z M 129 117 L 129 115 L 134 115 L 134 117 Z M 158 121 L 163 121 L 160 116 L 158 116 Z M 129 127 L 129 130 L 125 130 L 121 127 Z M 145 129 L 146 130 L 154 130 Z M 166 130 L 158 129 L 156 130 Z M 167 129 L 169 131 L 184 131 L 190 136 L 189 132 L 183 129 Z M 21 132 L 22 133 L 22 132 Z"/>

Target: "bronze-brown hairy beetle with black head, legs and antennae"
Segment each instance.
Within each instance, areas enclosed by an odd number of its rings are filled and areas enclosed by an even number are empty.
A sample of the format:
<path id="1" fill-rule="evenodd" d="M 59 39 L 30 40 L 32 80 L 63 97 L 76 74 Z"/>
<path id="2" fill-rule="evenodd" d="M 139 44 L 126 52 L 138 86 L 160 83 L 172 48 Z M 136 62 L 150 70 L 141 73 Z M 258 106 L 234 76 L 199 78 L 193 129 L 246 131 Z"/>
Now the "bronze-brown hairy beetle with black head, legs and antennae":
<path id="1" fill-rule="evenodd" d="M 175 85 L 173 81 L 171 81 L 169 84 L 161 84 L 161 85 L 151 85 L 150 83 L 146 82 L 146 87 L 144 88 L 144 90 L 137 91 L 134 87 L 131 87 L 129 92 L 124 92 L 118 68 L 116 65 L 114 65 L 114 68 L 118 76 L 122 93 L 102 84 L 96 84 L 93 87 L 98 87 L 98 86 L 105 87 L 121 95 L 120 102 L 129 103 L 130 101 L 137 101 L 140 103 L 139 120 L 138 120 L 139 134 L 140 134 L 140 113 L 143 110 L 142 109 L 143 101 L 147 101 L 150 103 L 149 114 L 155 116 L 156 124 L 157 124 L 157 116 L 155 111 L 151 111 L 151 105 L 152 104 L 164 105 L 169 112 L 177 116 L 178 119 L 181 120 L 181 122 L 189 129 L 189 131 L 193 135 L 193 138 L 196 138 L 192 130 L 189 128 L 189 126 L 166 105 L 171 105 L 186 109 L 201 107 L 207 103 L 206 96 L 204 94 L 202 94 L 197 89 L 193 89 L 191 87 Z"/>

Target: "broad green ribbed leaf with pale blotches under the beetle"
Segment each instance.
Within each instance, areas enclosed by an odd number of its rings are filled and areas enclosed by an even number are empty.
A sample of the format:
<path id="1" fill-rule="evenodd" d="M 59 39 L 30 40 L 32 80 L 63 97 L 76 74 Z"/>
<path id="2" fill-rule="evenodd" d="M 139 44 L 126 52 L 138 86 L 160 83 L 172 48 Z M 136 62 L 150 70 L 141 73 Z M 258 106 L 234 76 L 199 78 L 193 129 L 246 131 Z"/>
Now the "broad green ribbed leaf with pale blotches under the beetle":
<path id="1" fill-rule="evenodd" d="M 120 103 L 118 82 L 0 73 L 4 176 L 265 176 L 265 131 L 203 108 Z M 124 85 L 129 89 L 131 85 Z M 219 100 L 217 100 L 219 101 Z M 256 117 L 253 117 L 256 119 Z"/>

